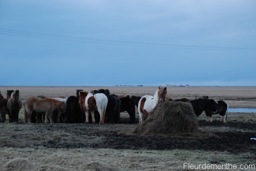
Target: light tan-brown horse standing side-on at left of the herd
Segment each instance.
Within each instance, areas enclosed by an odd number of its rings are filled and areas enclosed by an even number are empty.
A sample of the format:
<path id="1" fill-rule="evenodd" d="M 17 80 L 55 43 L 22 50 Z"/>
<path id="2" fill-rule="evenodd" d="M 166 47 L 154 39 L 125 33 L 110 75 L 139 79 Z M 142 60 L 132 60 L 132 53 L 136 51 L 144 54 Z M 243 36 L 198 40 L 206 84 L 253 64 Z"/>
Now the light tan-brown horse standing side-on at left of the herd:
<path id="1" fill-rule="evenodd" d="M 31 123 L 31 113 L 33 111 L 39 113 L 46 113 L 44 123 L 53 123 L 52 112 L 58 110 L 57 122 L 60 121 L 60 114 L 65 111 L 65 103 L 52 98 L 37 99 L 29 97 L 23 102 L 25 122 Z"/>

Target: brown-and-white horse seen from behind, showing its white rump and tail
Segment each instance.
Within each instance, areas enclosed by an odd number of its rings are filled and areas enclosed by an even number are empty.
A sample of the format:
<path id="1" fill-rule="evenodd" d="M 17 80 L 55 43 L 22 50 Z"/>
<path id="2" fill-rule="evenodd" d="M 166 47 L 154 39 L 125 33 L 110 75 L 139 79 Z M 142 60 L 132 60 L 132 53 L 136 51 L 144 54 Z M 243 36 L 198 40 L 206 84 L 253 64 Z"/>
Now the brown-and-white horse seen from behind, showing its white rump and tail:
<path id="1" fill-rule="evenodd" d="M 85 123 L 89 122 L 89 112 L 91 113 L 92 122 L 95 123 L 94 119 L 94 111 L 98 111 L 100 114 L 100 124 L 103 124 L 106 108 L 108 104 L 108 98 L 103 93 L 97 93 L 93 95 L 92 93 L 88 93 L 85 98 Z"/>

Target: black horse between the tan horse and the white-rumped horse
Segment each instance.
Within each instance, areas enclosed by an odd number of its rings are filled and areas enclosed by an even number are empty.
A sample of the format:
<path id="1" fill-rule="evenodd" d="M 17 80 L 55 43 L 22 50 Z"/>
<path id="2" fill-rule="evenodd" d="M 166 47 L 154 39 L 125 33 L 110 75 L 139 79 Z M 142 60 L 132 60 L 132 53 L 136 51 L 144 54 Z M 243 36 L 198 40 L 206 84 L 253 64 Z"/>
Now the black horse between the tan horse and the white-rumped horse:
<path id="1" fill-rule="evenodd" d="M 66 100 L 64 123 L 82 123 L 85 120 L 79 106 L 79 99 L 75 96 L 69 96 Z"/>

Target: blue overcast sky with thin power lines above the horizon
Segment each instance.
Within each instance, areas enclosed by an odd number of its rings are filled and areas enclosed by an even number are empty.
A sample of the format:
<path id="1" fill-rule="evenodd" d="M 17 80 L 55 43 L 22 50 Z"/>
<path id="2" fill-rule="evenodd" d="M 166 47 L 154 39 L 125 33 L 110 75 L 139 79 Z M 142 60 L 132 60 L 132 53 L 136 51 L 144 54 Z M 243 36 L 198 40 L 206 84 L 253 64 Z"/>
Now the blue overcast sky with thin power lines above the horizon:
<path id="1" fill-rule="evenodd" d="M 0 85 L 256 86 L 256 0 L 1 0 Z"/>

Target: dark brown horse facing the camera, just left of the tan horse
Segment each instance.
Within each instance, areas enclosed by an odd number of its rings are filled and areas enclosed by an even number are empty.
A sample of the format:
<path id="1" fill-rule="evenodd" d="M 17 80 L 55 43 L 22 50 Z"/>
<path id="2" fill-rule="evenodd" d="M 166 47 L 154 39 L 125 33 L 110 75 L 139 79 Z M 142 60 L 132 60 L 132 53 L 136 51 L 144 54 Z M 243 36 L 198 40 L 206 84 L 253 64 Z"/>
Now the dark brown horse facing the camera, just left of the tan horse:
<path id="1" fill-rule="evenodd" d="M 7 101 L 7 109 L 9 110 L 9 122 L 18 122 L 18 113 L 22 107 L 22 102 L 19 99 L 19 90 L 11 93 L 11 97 Z"/>

